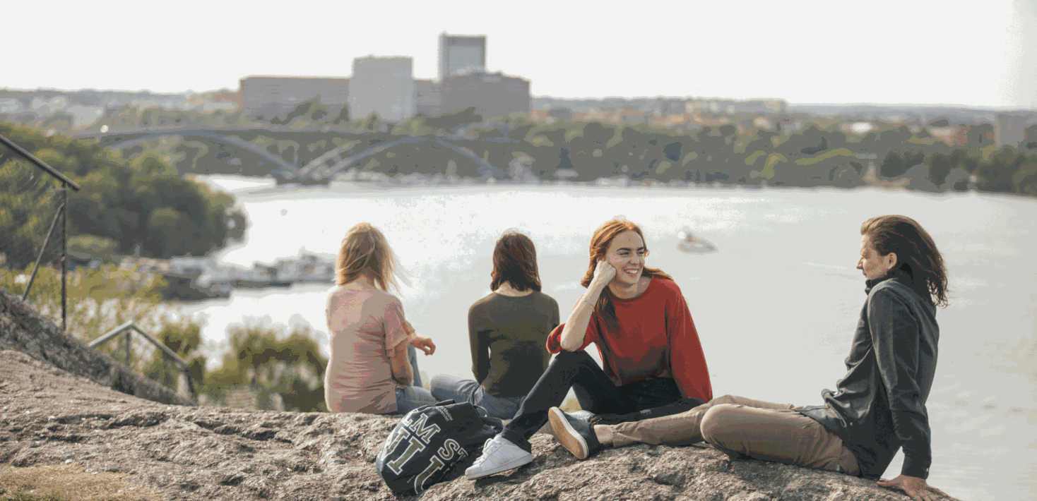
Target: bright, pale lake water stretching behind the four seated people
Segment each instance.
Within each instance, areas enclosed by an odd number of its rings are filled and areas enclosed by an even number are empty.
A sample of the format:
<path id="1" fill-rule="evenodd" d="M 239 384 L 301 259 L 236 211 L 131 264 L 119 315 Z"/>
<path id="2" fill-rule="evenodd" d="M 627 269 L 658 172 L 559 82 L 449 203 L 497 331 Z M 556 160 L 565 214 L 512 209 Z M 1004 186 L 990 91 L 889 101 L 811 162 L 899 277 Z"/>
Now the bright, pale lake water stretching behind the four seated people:
<path id="1" fill-rule="evenodd" d="M 901 213 L 944 253 L 951 305 L 937 313 L 940 362 L 928 402 L 929 481 L 965 500 L 1032 499 L 1037 493 L 1037 200 L 899 190 L 614 188 L 590 186 L 407 187 L 333 183 L 276 187 L 208 177 L 244 205 L 247 241 L 221 260 L 251 266 L 299 252 L 333 256 L 360 222 L 379 227 L 409 277 L 408 318 L 438 345 L 422 372 L 472 377 L 466 315 L 488 293 L 501 232 L 536 244 L 543 292 L 564 319 L 583 288 L 591 233 L 624 215 L 645 232 L 649 266 L 672 274 L 688 298 L 716 395 L 815 405 L 844 374 L 864 277 L 854 269 L 860 225 Z M 720 248 L 676 248 L 684 226 Z M 218 350 L 227 325 L 308 323 L 325 337 L 329 286 L 234 291 L 191 303 Z M 215 361 L 215 360 L 214 360 Z M 887 470 L 900 469 L 901 456 Z"/>

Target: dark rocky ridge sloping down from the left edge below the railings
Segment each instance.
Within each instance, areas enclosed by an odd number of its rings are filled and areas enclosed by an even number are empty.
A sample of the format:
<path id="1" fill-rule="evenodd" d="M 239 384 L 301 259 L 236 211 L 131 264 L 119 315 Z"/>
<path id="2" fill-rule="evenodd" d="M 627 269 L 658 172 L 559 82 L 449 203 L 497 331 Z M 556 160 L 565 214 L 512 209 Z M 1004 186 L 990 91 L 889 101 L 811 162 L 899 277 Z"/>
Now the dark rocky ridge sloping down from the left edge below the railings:
<path id="1" fill-rule="evenodd" d="M 194 405 L 133 372 L 114 358 L 86 346 L 39 315 L 22 298 L 0 287 L 0 348 L 17 350 L 33 358 L 127 394 L 163 404 Z"/>

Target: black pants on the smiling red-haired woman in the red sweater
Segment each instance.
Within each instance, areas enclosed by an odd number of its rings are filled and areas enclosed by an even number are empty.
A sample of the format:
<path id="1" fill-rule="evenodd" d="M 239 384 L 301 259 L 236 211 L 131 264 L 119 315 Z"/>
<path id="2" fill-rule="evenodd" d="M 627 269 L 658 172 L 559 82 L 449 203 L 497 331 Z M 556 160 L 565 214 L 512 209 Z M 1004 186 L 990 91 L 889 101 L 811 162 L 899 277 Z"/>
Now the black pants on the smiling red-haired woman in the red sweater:
<path id="1" fill-rule="evenodd" d="M 616 386 L 586 351 L 562 350 L 501 436 L 529 450 L 529 438 L 548 422 L 548 410 L 562 404 L 569 387 L 583 410 L 600 415 L 601 424 L 669 416 L 702 404 L 698 399 L 682 399 L 671 378 L 648 378 Z"/>

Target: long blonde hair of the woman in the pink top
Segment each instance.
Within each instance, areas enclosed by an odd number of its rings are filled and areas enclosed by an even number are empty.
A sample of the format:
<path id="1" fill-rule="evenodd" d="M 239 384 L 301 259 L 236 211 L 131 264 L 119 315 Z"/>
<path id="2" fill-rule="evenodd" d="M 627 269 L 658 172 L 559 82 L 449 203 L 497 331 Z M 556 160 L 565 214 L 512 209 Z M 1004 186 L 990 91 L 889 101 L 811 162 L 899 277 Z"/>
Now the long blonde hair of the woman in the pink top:
<path id="1" fill-rule="evenodd" d="M 370 224 L 360 223 L 342 239 L 335 264 L 335 283 L 344 286 L 361 274 L 367 274 L 383 291 L 396 284 L 396 259 L 385 235 Z"/>

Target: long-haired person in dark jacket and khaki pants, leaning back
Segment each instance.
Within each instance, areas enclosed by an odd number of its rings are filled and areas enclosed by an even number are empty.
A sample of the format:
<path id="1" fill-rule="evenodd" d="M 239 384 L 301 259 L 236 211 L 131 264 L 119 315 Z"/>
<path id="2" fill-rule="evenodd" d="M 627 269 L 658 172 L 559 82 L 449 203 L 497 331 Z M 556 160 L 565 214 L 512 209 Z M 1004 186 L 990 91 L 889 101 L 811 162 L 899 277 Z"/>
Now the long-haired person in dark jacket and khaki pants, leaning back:
<path id="1" fill-rule="evenodd" d="M 947 305 L 947 269 L 932 237 L 909 217 L 873 217 L 861 225 L 861 235 L 857 268 L 867 279 L 868 298 L 846 357 L 846 375 L 835 392 L 821 392 L 823 405 L 724 395 L 679 414 L 618 424 L 607 424 L 607 416 L 563 413 L 565 422 L 553 424 L 553 434 L 582 458 L 606 445 L 705 440 L 732 458 L 868 478 L 878 478 L 902 448 L 900 475 L 878 484 L 917 500 L 944 495 L 926 483 L 932 452 L 925 402 L 936 371 L 935 312 Z"/>

